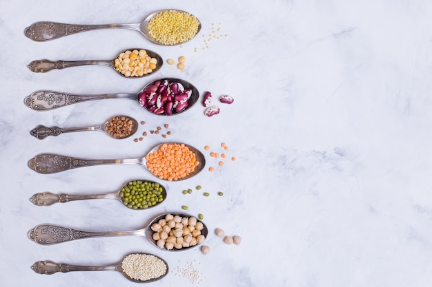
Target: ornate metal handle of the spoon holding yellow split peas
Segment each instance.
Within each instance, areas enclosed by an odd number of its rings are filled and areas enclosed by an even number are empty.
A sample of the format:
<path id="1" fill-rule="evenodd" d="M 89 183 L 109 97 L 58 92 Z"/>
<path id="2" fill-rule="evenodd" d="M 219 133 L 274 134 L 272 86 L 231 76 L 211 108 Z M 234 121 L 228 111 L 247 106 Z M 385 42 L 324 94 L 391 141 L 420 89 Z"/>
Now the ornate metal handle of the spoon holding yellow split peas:
<path id="1" fill-rule="evenodd" d="M 54 62 L 47 59 L 43 59 L 43 60 L 32 61 L 32 63 L 27 65 L 27 67 L 30 69 L 30 71 L 35 73 L 46 73 L 54 69 L 60 70 L 60 69 L 64 69 L 65 67 L 77 67 L 83 65 L 104 65 L 104 66 L 113 67 L 114 63 L 113 61 L 96 61 L 96 60 L 90 60 L 90 61 L 61 61 L 60 60 Z"/>

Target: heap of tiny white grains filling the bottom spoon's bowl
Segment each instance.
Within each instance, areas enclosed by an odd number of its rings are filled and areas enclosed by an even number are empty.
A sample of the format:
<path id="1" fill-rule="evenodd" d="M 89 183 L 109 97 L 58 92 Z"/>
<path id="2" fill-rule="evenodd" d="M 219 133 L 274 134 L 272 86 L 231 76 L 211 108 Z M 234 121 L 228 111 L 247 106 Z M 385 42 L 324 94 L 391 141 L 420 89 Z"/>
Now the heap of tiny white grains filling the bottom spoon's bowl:
<path id="1" fill-rule="evenodd" d="M 163 260 L 150 254 L 130 254 L 121 262 L 121 269 L 132 279 L 148 281 L 164 275 L 167 266 Z"/>

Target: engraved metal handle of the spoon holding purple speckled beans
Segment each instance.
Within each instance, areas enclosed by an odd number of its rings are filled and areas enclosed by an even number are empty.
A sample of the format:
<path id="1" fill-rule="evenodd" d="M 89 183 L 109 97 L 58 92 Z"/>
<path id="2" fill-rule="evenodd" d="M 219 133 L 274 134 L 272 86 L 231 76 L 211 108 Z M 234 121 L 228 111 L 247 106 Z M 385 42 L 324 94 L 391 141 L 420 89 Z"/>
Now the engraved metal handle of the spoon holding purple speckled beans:
<path id="1" fill-rule="evenodd" d="M 137 94 L 68 94 L 54 91 L 37 91 L 24 99 L 24 104 L 30 109 L 37 111 L 48 111 L 57 107 L 64 107 L 87 100 L 104 100 L 110 98 L 128 98 L 138 100 Z"/>

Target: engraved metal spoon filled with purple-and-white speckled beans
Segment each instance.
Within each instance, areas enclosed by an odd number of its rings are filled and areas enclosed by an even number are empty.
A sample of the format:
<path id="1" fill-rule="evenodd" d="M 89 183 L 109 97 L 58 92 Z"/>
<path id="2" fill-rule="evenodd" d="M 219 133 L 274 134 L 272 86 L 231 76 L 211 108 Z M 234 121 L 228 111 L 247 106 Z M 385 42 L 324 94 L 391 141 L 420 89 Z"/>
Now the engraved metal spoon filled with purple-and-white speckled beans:
<path id="1" fill-rule="evenodd" d="M 88 100 L 135 100 L 152 114 L 175 116 L 187 111 L 199 99 L 198 89 L 180 78 L 159 78 L 151 81 L 135 94 L 69 94 L 37 91 L 24 98 L 24 104 L 35 111 L 48 111 Z"/>

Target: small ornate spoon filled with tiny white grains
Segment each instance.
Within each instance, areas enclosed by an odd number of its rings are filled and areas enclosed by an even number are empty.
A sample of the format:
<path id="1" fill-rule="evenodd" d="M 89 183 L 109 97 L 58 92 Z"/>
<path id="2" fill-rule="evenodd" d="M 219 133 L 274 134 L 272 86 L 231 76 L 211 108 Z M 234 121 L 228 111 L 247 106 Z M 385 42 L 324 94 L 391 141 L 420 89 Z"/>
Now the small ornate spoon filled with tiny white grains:
<path id="1" fill-rule="evenodd" d="M 168 274 L 168 263 L 149 253 L 130 253 L 119 262 L 108 266 L 78 266 L 44 260 L 35 262 L 31 268 L 36 273 L 45 275 L 71 271 L 119 271 L 127 279 L 137 283 L 157 281 Z"/>

